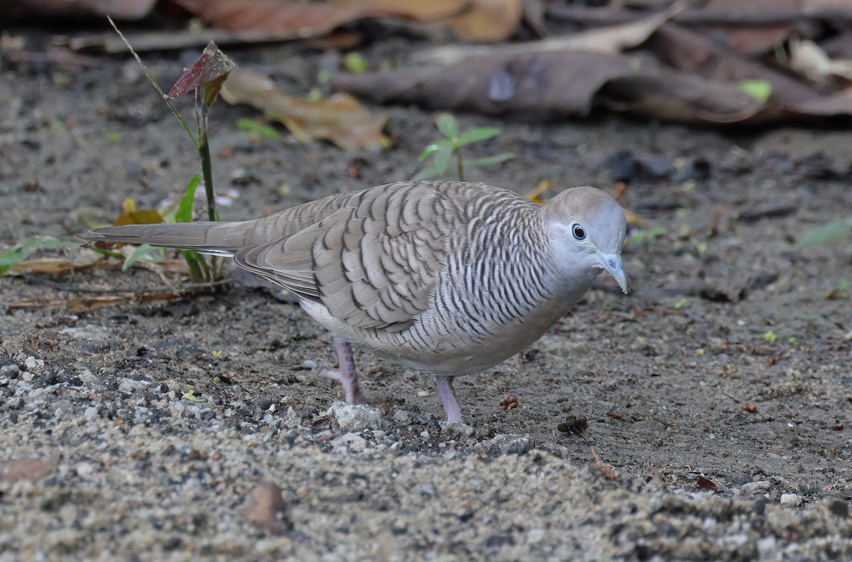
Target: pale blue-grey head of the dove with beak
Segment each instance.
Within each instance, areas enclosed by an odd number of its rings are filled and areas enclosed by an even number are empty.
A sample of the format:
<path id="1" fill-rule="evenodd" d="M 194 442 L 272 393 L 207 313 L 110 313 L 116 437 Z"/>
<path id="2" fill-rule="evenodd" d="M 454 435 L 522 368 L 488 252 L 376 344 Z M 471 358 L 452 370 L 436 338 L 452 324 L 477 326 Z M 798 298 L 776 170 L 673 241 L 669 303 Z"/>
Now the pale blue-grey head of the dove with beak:
<path id="1" fill-rule="evenodd" d="M 557 265 L 569 275 L 597 275 L 605 270 L 627 293 L 621 263 L 627 220 L 625 210 L 596 188 L 571 188 L 544 207 Z"/>

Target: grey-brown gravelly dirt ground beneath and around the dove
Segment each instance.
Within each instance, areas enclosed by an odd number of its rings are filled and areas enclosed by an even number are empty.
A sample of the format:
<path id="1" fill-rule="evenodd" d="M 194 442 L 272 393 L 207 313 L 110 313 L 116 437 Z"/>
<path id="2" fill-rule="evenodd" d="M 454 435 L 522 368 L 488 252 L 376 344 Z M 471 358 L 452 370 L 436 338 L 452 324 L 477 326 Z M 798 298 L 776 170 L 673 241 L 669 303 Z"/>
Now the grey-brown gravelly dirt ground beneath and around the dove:
<path id="1" fill-rule="evenodd" d="M 230 54 L 292 93 L 328 64 Z M 147 61 L 170 84 L 194 56 Z M 71 235 L 126 197 L 158 206 L 196 170 L 135 64 L 101 62 L 0 69 L 0 240 Z M 394 147 L 346 154 L 252 139 L 234 126 L 252 110 L 218 104 L 222 217 L 411 177 L 432 113 L 374 110 Z M 852 209 L 849 133 L 459 119 L 503 130 L 474 155 L 517 154 L 470 180 L 611 194 L 628 180 L 631 235 L 666 229 L 625 248 L 630 295 L 602 277 L 520 356 L 458 379 L 469 435 L 442 429 L 429 377 L 363 351 L 381 419 L 341 427 L 325 414 L 337 385 L 302 367 L 331 362 L 328 335 L 262 288 L 72 313 L 15 303 L 181 276 L 4 277 L 0 560 L 852 559 L 852 306 L 838 290 L 852 251 L 797 247 Z M 517 408 L 500 408 L 507 395 Z M 558 431 L 570 416 L 588 428 Z M 264 511 L 269 486 L 246 504 L 269 481 L 285 505 Z"/>

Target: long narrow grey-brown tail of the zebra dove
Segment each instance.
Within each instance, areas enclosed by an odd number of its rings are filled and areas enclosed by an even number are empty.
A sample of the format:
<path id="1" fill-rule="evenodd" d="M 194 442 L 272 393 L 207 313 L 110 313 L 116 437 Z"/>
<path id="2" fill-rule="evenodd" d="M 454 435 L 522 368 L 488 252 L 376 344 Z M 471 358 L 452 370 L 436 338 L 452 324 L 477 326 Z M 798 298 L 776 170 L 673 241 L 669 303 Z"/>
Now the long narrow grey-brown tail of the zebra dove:
<path id="1" fill-rule="evenodd" d="M 80 234 L 85 240 L 150 244 L 186 248 L 218 256 L 233 256 L 245 246 L 256 221 L 239 223 L 126 224 Z"/>

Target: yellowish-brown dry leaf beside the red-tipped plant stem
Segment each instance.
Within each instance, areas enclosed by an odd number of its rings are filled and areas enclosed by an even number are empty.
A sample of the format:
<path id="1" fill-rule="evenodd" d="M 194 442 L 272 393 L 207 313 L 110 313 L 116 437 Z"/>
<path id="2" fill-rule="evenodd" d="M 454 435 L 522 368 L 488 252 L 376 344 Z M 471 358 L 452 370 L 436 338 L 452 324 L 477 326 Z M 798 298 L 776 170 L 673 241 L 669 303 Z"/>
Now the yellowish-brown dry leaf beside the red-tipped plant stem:
<path id="1" fill-rule="evenodd" d="M 222 98 L 231 104 L 247 103 L 260 109 L 286 125 L 300 142 L 325 139 L 346 150 L 389 145 L 388 137 L 382 134 L 385 119 L 373 117 L 358 100 L 346 94 L 320 100 L 287 96 L 261 72 L 237 68 L 227 78 Z"/>

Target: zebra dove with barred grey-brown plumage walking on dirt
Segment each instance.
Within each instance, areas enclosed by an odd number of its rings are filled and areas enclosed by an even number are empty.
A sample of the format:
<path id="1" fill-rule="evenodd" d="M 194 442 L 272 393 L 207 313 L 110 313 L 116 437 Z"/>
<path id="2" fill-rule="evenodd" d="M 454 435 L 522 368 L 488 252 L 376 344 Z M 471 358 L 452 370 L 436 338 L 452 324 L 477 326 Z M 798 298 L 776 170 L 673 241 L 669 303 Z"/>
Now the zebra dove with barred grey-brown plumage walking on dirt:
<path id="1" fill-rule="evenodd" d="M 90 230 L 89 240 L 191 248 L 289 289 L 331 331 L 338 367 L 317 367 L 363 403 L 351 343 L 435 375 L 448 421 L 453 377 L 544 334 L 602 270 L 627 293 L 625 212 L 596 188 L 539 206 L 481 183 L 402 182 L 239 223 Z"/>

